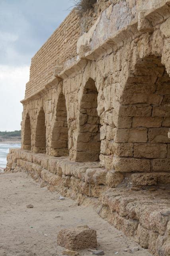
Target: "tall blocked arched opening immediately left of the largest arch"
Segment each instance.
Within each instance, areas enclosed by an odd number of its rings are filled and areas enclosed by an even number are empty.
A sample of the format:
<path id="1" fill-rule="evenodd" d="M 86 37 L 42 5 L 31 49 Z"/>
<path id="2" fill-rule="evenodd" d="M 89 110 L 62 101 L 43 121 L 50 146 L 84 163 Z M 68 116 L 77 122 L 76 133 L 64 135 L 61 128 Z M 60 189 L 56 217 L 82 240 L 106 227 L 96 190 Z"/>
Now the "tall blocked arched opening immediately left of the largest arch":
<path id="1" fill-rule="evenodd" d="M 100 155 L 100 117 L 98 116 L 98 91 L 95 82 L 89 78 L 83 90 L 80 112 L 79 127 L 75 140 L 78 162 L 93 162 L 99 160 Z"/>

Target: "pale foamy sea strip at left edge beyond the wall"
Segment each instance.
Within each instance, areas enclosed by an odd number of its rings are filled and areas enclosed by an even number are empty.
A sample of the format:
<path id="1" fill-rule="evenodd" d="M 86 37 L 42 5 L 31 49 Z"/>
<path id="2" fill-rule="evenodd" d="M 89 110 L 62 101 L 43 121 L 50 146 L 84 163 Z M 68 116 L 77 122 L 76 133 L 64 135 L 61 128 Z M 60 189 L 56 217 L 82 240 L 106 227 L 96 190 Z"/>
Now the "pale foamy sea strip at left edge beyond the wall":
<path id="1" fill-rule="evenodd" d="M 12 142 L 0 142 L 0 172 L 6 168 L 6 156 L 9 153 L 10 148 L 20 148 L 21 143 Z"/>

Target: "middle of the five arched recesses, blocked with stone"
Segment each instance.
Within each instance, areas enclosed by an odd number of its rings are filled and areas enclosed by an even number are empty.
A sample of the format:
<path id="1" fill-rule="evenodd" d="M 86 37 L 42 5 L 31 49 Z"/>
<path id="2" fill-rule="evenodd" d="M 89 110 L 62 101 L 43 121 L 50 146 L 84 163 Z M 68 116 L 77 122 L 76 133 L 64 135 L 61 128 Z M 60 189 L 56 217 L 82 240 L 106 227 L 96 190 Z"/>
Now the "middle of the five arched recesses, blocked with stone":
<path id="1" fill-rule="evenodd" d="M 51 138 L 51 155 L 68 156 L 68 126 L 66 100 L 63 92 L 59 95 L 55 124 Z"/>

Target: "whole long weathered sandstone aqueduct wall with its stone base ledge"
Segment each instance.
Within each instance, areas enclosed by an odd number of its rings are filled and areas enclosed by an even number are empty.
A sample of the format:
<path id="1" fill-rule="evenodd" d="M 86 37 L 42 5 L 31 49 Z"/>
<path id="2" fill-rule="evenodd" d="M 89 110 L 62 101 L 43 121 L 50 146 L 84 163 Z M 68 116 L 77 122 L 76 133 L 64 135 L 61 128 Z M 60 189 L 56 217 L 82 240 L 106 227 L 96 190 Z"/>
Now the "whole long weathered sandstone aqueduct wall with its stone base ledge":
<path id="1" fill-rule="evenodd" d="M 120 0 L 107 7 L 80 37 L 73 10 L 33 57 L 22 101 L 22 148 L 10 152 L 8 169 L 35 169 L 49 184 L 57 175 L 55 185 L 63 182 L 67 189 L 94 197 L 125 184 L 168 188 L 170 2 Z M 102 198 L 105 214 L 116 212 L 111 223 L 125 230 L 133 226 L 132 236 L 138 233 L 142 246 L 154 255 L 170 255 L 166 225 L 164 231 L 152 230 L 143 217 L 111 208 L 113 196 Z M 161 202 L 155 209 L 169 204 Z M 130 218 L 130 224 L 124 219 L 116 224 L 118 215 Z"/>

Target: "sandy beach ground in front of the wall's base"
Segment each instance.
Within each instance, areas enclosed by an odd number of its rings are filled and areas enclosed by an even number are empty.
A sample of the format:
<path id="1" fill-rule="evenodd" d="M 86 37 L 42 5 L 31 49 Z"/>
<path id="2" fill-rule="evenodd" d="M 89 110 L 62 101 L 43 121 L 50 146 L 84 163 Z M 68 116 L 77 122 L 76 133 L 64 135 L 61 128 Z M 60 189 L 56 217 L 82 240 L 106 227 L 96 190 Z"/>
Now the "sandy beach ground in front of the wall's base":
<path id="1" fill-rule="evenodd" d="M 0 256 L 60 256 L 64 248 L 56 242 L 59 230 L 85 224 L 97 230 L 98 249 L 106 256 L 130 256 L 123 249 L 139 246 L 100 218 L 92 205 L 59 200 L 57 192 L 40 188 L 25 173 L 1 174 L 0 195 Z M 87 249 L 79 254 L 92 255 Z M 133 255 L 150 256 L 140 246 Z"/>

